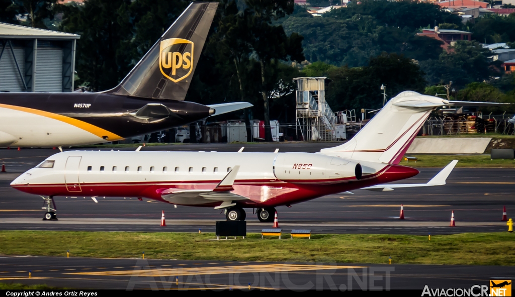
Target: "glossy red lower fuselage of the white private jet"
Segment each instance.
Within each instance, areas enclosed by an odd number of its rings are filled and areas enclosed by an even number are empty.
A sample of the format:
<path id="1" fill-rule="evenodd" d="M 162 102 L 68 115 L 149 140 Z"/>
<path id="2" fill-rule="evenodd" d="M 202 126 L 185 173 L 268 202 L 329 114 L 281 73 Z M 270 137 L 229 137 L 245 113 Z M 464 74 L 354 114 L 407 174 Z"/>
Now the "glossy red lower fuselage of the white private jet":
<path id="1" fill-rule="evenodd" d="M 341 193 L 376 184 L 383 184 L 414 177 L 418 170 L 400 165 L 387 165 L 379 173 L 369 178 L 352 181 L 342 181 L 334 184 L 298 184 L 283 181 L 253 180 L 236 181 L 233 184 L 234 194 L 248 197 L 247 201 L 238 201 L 244 207 L 266 207 L 299 203 L 325 195 Z M 328 180 L 333 181 L 333 180 Z M 162 202 L 161 193 L 170 188 L 207 189 L 212 190 L 219 181 L 182 181 L 182 182 L 141 182 L 141 183 L 101 183 L 80 184 L 81 192 L 70 192 L 64 184 L 12 185 L 13 188 L 30 194 L 44 196 L 105 196 L 105 197 L 145 197 Z M 277 191 L 277 195 L 274 194 Z M 265 201 L 264 192 L 271 194 Z M 216 206 L 220 202 L 210 202 L 196 206 Z"/>

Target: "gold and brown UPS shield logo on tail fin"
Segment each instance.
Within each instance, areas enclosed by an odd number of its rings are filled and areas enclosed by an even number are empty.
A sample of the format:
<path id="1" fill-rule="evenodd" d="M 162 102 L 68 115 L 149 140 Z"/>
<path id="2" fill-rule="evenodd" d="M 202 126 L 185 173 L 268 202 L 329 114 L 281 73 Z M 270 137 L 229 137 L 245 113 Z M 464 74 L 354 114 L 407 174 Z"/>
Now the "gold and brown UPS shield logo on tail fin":
<path id="1" fill-rule="evenodd" d="M 159 69 L 173 82 L 179 82 L 192 73 L 193 42 L 170 38 L 161 41 L 159 50 Z"/>

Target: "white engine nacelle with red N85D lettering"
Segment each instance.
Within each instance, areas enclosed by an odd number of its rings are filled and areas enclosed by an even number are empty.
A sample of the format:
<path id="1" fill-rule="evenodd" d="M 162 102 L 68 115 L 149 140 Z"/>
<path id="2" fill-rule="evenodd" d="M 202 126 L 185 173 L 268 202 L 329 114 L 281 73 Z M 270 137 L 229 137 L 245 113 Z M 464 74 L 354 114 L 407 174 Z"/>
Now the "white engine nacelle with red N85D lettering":
<path id="1" fill-rule="evenodd" d="M 359 163 L 312 153 L 279 153 L 273 161 L 277 179 L 292 183 L 342 182 L 359 180 L 363 170 Z"/>

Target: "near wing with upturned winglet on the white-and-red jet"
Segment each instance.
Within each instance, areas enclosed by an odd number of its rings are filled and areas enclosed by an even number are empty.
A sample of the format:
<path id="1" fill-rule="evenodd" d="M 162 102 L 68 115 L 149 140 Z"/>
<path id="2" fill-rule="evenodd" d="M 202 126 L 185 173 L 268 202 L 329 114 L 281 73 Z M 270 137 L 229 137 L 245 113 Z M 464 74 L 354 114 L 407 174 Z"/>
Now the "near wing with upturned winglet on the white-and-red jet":
<path id="1" fill-rule="evenodd" d="M 221 204 L 215 209 L 227 208 L 236 205 L 237 200 L 250 200 L 247 197 L 231 193 L 239 165 L 234 166 L 224 179 L 212 189 L 168 189 L 161 193 L 161 198 L 170 203 L 181 205 L 200 205 L 220 201 Z"/>

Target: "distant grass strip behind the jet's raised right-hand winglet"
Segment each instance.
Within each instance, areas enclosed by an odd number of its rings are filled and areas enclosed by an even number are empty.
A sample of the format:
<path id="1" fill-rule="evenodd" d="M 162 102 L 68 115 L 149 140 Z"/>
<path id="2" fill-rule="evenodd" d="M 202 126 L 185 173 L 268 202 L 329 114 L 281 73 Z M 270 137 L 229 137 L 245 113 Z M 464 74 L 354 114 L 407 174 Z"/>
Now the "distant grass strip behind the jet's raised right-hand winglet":
<path id="1" fill-rule="evenodd" d="M 406 156 L 413 156 L 418 158 L 415 161 L 406 163 L 404 158 L 399 165 L 406 165 L 410 167 L 445 167 L 452 160 L 458 160 L 456 167 L 473 167 L 473 168 L 515 168 L 515 160 L 502 160 L 490 159 L 489 154 L 474 154 L 474 155 L 442 155 L 442 154 L 406 154 Z"/>

